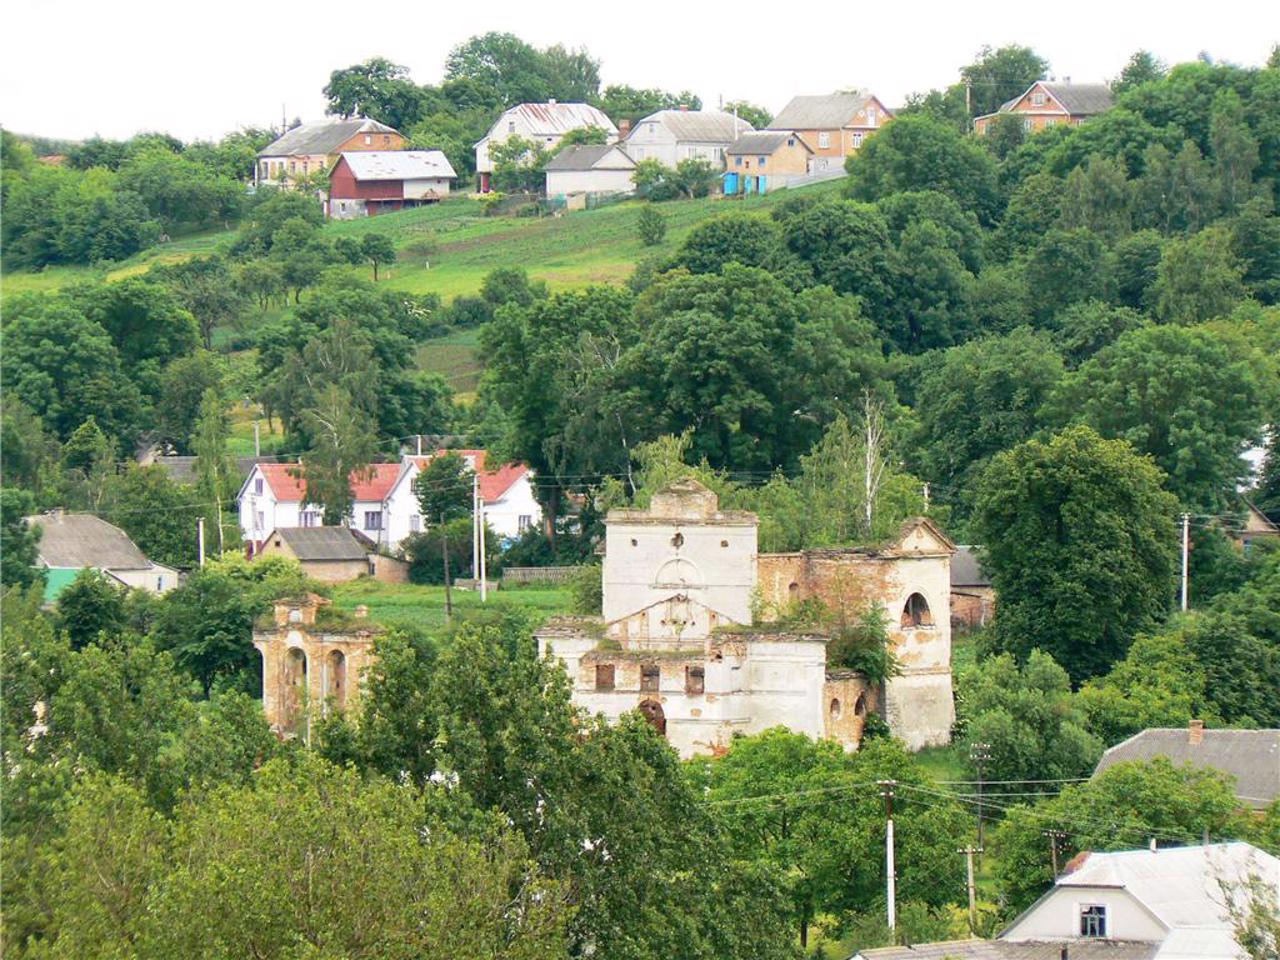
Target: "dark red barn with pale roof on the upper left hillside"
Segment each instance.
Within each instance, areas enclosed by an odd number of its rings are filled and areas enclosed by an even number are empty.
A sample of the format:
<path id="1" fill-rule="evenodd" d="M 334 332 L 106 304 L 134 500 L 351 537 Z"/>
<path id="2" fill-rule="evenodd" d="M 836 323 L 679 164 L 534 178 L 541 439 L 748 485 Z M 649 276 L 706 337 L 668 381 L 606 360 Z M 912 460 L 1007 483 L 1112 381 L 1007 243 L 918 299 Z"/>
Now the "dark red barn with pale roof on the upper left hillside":
<path id="1" fill-rule="evenodd" d="M 370 150 L 342 154 L 329 173 L 325 212 L 335 220 L 372 216 L 449 196 L 457 174 L 439 150 Z"/>

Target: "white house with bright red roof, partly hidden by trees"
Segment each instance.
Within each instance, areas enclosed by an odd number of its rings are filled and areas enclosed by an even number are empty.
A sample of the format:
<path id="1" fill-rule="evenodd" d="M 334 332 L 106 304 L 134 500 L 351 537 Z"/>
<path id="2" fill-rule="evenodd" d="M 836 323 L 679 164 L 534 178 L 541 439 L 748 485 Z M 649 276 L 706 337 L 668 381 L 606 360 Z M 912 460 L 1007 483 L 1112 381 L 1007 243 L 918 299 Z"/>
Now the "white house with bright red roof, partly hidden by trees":
<path id="1" fill-rule="evenodd" d="M 532 474 L 524 463 L 502 463 L 489 470 L 485 451 L 452 451 L 480 474 L 489 529 L 500 538 L 515 538 L 541 522 L 541 507 L 534 498 Z M 439 452 L 438 452 L 439 453 Z M 374 463 L 362 475 L 352 475 L 355 494 L 348 525 L 379 547 L 394 550 L 410 534 L 425 527 L 413 480 L 433 456 L 404 457 L 399 463 Z M 306 484 L 298 463 L 257 463 L 238 497 L 241 531 L 257 552 L 268 534 L 278 527 L 323 526 L 324 509 L 306 503 Z"/>

